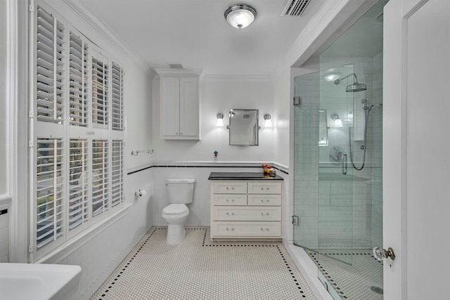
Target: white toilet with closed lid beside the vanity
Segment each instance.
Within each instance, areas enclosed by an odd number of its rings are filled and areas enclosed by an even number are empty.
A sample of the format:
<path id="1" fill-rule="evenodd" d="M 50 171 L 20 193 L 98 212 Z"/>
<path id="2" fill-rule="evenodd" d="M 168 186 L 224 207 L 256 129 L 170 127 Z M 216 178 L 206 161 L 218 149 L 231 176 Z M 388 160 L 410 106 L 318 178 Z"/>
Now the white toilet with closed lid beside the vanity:
<path id="1" fill-rule="evenodd" d="M 167 178 L 169 205 L 162 209 L 162 219 L 167 222 L 167 244 L 179 244 L 184 241 L 184 222 L 188 219 L 194 193 L 194 178 Z"/>

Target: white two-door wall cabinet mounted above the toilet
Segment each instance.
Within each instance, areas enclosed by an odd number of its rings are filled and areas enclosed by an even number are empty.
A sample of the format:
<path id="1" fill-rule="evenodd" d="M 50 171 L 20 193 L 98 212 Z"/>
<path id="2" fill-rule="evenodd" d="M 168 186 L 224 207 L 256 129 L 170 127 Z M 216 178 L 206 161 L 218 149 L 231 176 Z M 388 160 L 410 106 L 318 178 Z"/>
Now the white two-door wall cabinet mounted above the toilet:
<path id="1" fill-rule="evenodd" d="M 160 74 L 160 138 L 200 140 L 201 70 L 156 72 Z"/>

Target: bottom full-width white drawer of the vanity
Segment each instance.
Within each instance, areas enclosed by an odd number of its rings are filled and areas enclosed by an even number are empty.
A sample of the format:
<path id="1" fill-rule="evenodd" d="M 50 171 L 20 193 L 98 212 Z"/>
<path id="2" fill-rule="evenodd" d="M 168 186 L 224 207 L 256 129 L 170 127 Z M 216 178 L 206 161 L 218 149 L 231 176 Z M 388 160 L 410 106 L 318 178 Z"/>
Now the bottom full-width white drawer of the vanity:
<path id="1" fill-rule="evenodd" d="M 280 237 L 281 222 L 214 222 L 214 237 Z"/>

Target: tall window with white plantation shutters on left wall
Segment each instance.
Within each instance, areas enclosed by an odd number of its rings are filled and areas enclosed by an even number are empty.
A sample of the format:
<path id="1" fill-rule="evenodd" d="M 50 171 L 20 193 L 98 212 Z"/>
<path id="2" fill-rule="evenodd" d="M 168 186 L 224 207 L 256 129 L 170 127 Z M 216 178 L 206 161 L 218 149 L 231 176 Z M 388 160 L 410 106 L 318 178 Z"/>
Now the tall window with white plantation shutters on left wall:
<path id="1" fill-rule="evenodd" d="M 124 207 L 124 70 L 44 1 L 30 11 L 30 261 Z M 95 225 L 95 226 L 92 226 Z M 87 230 L 87 231 L 86 231 Z"/>

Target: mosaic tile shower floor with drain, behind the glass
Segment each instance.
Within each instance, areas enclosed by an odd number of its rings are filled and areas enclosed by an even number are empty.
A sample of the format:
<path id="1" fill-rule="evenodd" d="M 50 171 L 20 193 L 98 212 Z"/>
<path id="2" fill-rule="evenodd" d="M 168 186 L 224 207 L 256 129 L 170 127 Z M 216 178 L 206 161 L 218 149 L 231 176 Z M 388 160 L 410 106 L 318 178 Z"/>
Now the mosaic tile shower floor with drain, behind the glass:
<path id="1" fill-rule="evenodd" d="M 383 294 L 377 293 L 383 291 L 383 262 L 375 259 L 370 249 L 352 252 L 328 249 L 323 254 L 307 250 L 307 253 L 341 299 L 383 300 Z M 351 264 L 348 263 L 349 256 Z"/>

